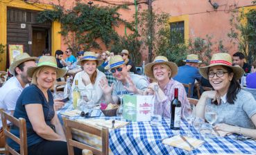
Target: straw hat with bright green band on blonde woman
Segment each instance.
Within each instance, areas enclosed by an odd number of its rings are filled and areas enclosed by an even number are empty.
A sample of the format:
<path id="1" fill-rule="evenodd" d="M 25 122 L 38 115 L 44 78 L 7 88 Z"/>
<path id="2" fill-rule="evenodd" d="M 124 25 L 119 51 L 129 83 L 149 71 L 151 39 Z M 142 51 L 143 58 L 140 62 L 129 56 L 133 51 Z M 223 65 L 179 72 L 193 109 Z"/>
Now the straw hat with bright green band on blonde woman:
<path id="1" fill-rule="evenodd" d="M 26 73 L 28 74 L 28 77 L 32 78 L 33 73 L 35 72 L 35 70 L 39 69 L 42 66 L 50 66 L 50 67 L 53 67 L 53 68 L 57 69 L 57 79 L 63 77 L 67 73 L 66 69 L 58 68 L 55 57 L 53 57 L 53 56 L 42 56 L 42 57 L 40 57 L 37 66 L 28 68 L 28 71 L 26 71 Z"/>

